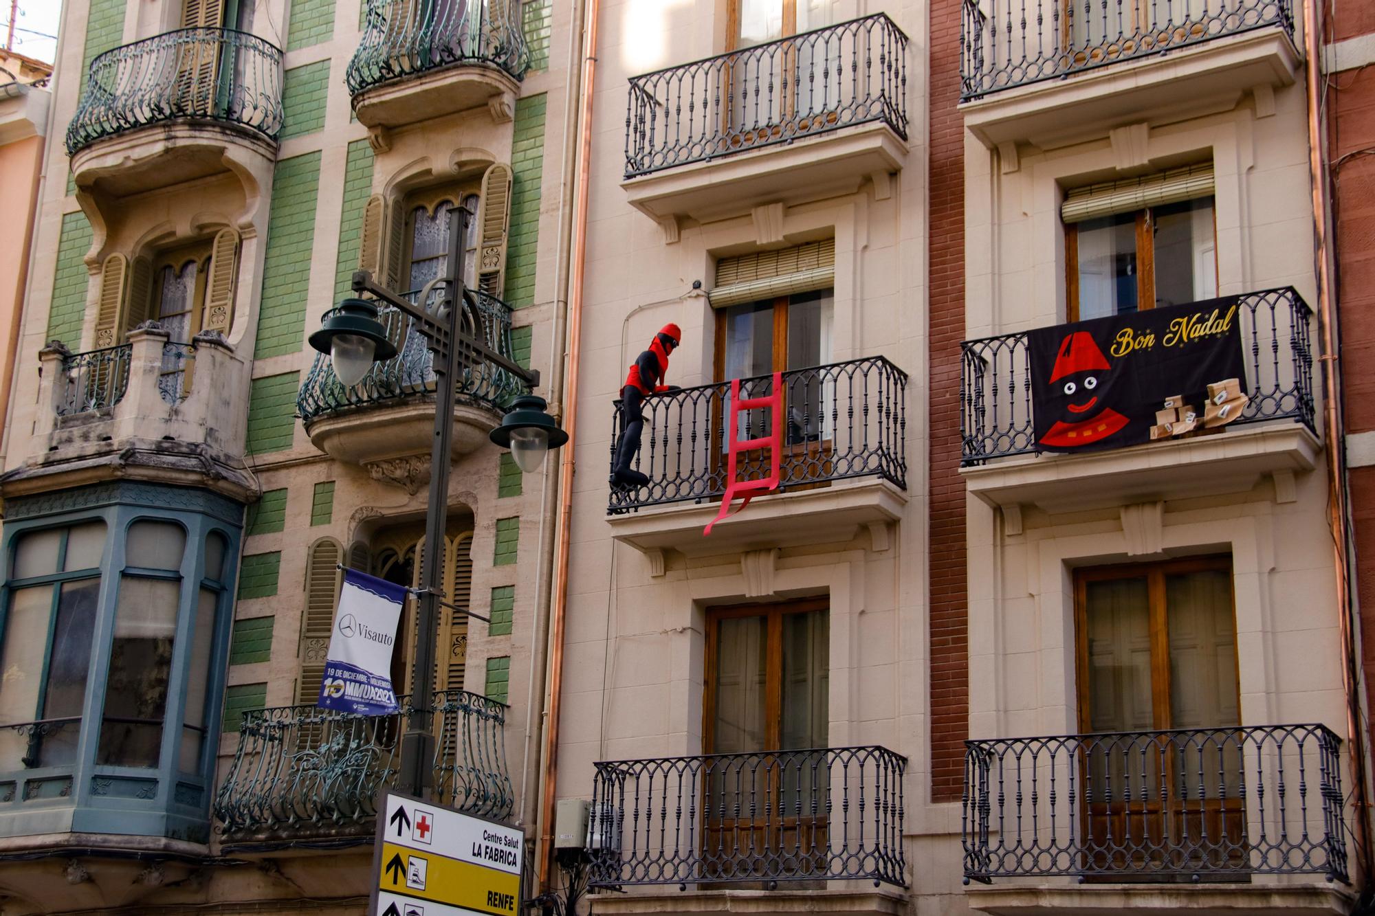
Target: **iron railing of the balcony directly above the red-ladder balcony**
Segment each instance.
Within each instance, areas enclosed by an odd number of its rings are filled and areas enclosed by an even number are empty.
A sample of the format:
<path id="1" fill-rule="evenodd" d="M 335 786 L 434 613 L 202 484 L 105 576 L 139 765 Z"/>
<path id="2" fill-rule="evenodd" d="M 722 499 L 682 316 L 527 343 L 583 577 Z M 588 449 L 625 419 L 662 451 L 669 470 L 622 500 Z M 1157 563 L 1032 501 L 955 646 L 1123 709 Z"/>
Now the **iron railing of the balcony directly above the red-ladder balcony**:
<path id="1" fill-rule="evenodd" d="M 626 177 L 870 121 L 908 138 L 908 36 L 881 12 L 632 77 Z"/>

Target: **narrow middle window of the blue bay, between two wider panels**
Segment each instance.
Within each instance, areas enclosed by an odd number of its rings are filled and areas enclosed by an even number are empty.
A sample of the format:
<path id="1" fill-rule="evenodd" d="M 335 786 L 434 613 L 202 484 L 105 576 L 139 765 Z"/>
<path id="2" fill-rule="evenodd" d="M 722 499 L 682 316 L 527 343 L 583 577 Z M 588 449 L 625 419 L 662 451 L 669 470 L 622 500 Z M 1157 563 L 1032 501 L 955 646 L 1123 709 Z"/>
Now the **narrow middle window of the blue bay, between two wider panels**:
<path id="1" fill-rule="evenodd" d="M 129 525 L 96 763 L 158 766 L 184 552 L 179 524 Z"/>

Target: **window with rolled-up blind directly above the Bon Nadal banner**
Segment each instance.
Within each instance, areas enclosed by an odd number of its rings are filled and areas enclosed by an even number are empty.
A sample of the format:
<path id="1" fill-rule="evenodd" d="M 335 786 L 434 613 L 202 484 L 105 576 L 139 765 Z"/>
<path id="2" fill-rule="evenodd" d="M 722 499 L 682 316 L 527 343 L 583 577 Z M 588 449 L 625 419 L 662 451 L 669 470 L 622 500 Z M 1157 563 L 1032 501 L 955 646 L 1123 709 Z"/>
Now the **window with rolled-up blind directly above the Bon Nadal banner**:
<path id="1" fill-rule="evenodd" d="M 1211 165 L 1075 188 L 1062 216 L 1068 320 L 1217 296 Z"/>

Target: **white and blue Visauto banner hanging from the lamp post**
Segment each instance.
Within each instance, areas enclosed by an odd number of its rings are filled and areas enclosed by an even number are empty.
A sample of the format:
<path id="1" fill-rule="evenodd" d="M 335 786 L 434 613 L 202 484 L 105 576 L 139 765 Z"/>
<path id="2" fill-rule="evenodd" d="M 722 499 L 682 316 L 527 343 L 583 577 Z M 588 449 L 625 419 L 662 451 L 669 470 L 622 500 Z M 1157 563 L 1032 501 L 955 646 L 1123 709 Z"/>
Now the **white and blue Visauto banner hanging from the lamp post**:
<path id="1" fill-rule="evenodd" d="M 404 587 L 344 571 L 318 707 L 358 715 L 389 715 L 400 708 L 390 671 L 404 602 Z"/>

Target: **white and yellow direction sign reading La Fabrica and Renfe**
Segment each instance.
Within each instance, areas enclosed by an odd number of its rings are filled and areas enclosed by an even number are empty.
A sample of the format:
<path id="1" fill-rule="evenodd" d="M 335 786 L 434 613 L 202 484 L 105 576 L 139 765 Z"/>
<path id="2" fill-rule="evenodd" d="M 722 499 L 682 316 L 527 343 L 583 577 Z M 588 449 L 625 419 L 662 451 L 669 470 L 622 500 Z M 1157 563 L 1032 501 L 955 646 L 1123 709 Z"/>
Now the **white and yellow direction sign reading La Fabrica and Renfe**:
<path id="1" fill-rule="evenodd" d="M 377 818 L 373 916 L 516 916 L 521 831 L 386 792 Z"/>

